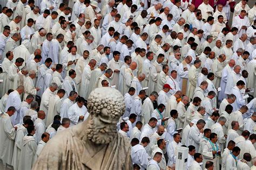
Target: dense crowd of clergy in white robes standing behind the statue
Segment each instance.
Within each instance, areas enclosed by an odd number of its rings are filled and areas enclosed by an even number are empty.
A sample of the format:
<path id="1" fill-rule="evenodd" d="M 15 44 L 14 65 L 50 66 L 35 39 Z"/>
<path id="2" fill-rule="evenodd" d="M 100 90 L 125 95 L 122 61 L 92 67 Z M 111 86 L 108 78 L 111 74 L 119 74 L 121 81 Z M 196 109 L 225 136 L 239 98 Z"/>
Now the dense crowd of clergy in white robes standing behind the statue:
<path id="1" fill-rule="evenodd" d="M 91 91 L 111 87 L 124 96 L 117 134 L 134 169 L 175 169 L 179 147 L 186 169 L 256 169 L 247 2 L 1 1 L 2 168 L 31 169 L 51 138 L 90 116 Z"/>

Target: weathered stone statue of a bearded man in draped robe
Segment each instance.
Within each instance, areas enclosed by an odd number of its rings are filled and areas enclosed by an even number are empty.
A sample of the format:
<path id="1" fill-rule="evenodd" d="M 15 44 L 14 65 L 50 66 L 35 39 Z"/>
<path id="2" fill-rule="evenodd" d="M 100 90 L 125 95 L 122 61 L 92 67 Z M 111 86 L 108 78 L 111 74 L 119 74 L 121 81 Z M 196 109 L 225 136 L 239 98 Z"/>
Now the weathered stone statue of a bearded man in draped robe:
<path id="1" fill-rule="evenodd" d="M 49 140 L 33 169 L 133 169 L 130 141 L 116 126 L 125 111 L 122 94 L 97 88 L 87 107 L 89 118 Z"/>

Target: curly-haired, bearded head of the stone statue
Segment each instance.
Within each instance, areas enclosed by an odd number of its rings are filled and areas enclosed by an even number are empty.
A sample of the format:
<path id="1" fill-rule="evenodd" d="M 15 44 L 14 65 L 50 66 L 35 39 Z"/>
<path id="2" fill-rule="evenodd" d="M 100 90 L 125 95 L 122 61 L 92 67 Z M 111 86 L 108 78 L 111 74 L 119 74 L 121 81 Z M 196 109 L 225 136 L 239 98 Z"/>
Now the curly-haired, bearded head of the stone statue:
<path id="1" fill-rule="evenodd" d="M 87 138 L 96 144 L 108 144 L 117 136 L 116 125 L 124 114 L 124 97 L 110 87 L 93 90 L 88 98 L 90 113 Z"/>

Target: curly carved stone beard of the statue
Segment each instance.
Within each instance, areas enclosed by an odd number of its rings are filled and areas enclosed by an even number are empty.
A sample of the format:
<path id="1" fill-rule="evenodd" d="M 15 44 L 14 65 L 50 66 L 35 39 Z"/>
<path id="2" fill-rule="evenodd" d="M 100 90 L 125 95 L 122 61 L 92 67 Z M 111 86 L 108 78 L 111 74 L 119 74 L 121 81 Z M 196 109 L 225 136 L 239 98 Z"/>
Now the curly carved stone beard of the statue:
<path id="1" fill-rule="evenodd" d="M 104 124 L 104 123 L 102 123 Z M 95 144 L 109 144 L 117 134 L 117 126 L 109 124 L 98 127 L 91 119 L 86 130 L 87 138 Z"/>

